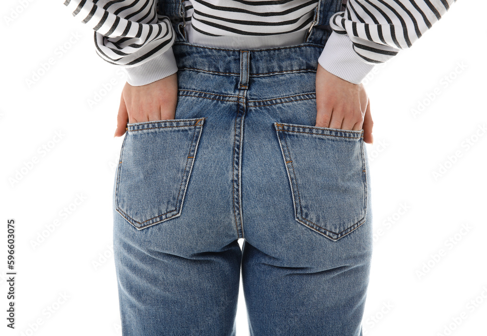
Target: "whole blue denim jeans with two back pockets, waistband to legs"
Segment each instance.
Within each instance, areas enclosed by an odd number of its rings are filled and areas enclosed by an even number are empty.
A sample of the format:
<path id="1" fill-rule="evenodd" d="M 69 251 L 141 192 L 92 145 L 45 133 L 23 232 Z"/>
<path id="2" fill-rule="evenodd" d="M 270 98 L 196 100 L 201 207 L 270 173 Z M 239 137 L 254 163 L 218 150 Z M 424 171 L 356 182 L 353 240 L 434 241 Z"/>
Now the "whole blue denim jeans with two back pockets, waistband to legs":
<path id="1" fill-rule="evenodd" d="M 361 336 L 370 174 L 363 131 L 314 126 L 329 32 L 232 50 L 182 24 L 175 119 L 128 124 L 114 179 L 123 335 L 235 335 L 242 272 L 251 336 Z"/>

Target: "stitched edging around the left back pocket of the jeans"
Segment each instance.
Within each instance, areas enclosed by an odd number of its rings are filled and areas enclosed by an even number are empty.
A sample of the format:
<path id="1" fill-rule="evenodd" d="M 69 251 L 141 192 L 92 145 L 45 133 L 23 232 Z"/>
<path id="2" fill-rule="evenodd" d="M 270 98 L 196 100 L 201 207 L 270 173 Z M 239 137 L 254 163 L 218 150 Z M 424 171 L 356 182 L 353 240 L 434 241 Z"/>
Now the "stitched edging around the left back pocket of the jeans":
<path id="1" fill-rule="evenodd" d="M 115 205 L 116 205 L 116 209 L 115 209 L 115 210 L 116 210 L 116 211 L 117 211 L 117 212 L 118 212 L 118 213 L 119 213 L 119 214 L 120 214 L 122 217 L 124 217 L 124 218 L 125 218 L 125 219 L 126 219 L 126 220 L 127 220 L 127 221 L 128 221 L 128 222 L 129 222 L 129 223 L 130 223 L 130 224 L 131 224 L 133 227 L 134 227 L 134 228 L 136 228 L 137 230 L 142 230 L 142 229 L 147 228 L 147 227 L 149 227 L 149 226 L 159 224 L 159 223 L 161 223 L 161 222 L 163 222 L 163 221 L 166 221 L 166 220 L 169 220 L 170 218 L 173 218 L 173 217 L 175 217 L 175 216 L 177 216 L 177 215 L 179 215 L 179 214 L 181 213 L 181 210 L 183 209 L 183 202 L 184 202 L 184 198 L 185 198 L 185 194 L 186 194 L 186 193 L 185 193 L 185 192 L 183 192 L 183 197 L 182 197 L 182 199 L 181 199 L 181 202 L 179 202 L 179 196 L 181 195 L 181 190 L 182 190 L 183 182 L 184 182 L 184 180 L 185 180 L 185 179 L 186 179 L 186 187 L 185 187 L 185 189 L 184 189 L 184 190 L 185 190 L 185 191 L 187 190 L 187 185 L 188 185 L 188 183 L 189 183 L 189 176 L 188 176 L 188 175 L 190 175 L 191 170 L 192 170 L 192 167 L 193 167 L 193 165 L 194 165 L 194 160 L 195 160 L 195 158 L 196 158 L 196 149 L 197 149 L 197 147 L 198 147 L 198 144 L 199 144 L 199 141 L 200 141 L 200 138 L 201 138 L 201 134 L 202 134 L 202 131 L 203 131 L 203 124 L 204 124 L 204 123 L 199 124 L 199 122 L 200 122 L 200 121 L 202 121 L 202 120 L 205 120 L 205 119 L 206 119 L 206 118 L 199 118 L 199 119 L 196 121 L 196 123 L 195 123 L 195 124 L 190 124 L 190 125 L 162 126 L 162 127 L 151 127 L 151 128 L 142 128 L 142 129 L 131 130 L 131 131 L 141 131 L 141 130 L 145 130 L 145 129 L 153 129 L 153 128 L 165 128 L 165 127 L 188 127 L 188 126 L 190 126 L 190 127 L 194 127 L 193 139 L 192 139 L 192 141 L 191 141 L 191 146 L 190 146 L 190 148 L 189 148 L 189 154 L 188 154 L 188 156 L 187 156 L 186 166 L 185 166 L 185 170 L 184 170 L 184 172 L 185 172 L 185 173 L 184 173 L 184 175 L 183 175 L 183 178 L 181 179 L 181 184 L 180 184 L 180 186 L 179 186 L 179 192 L 178 192 L 178 196 L 177 196 L 177 199 L 176 199 L 176 201 L 177 201 L 177 203 L 176 203 L 176 204 L 178 204 L 178 205 L 179 205 L 179 212 L 176 212 L 174 215 L 171 215 L 171 216 L 169 216 L 169 217 L 166 217 L 166 218 L 164 218 L 164 219 L 162 219 L 162 220 L 160 220 L 160 221 L 157 221 L 157 222 L 154 222 L 154 223 L 150 223 L 150 224 L 147 224 L 147 225 L 144 225 L 144 226 L 141 226 L 141 227 L 137 227 L 137 226 L 134 224 L 134 222 L 135 222 L 135 223 L 137 223 L 137 224 L 142 224 L 142 223 L 145 223 L 145 222 L 147 222 L 147 221 L 149 221 L 149 220 L 151 220 L 151 219 L 154 219 L 154 218 L 157 218 L 157 217 L 160 217 L 160 216 L 164 216 L 165 214 L 168 214 L 168 213 L 170 213 L 170 212 L 175 212 L 175 211 L 177 211 L 178 209 L 177 209 L 177 207 L 176 207 L 176 209 L 174 209 L 174 210 L 171 210 L 171 211 L 168 211 L 168 212 L 165 212 L 165 213 L 162 213 L 162 214 L 158 214 L 157 216 L 154 216 L 154 217 L 152 217 L 152 218 L 146 219 L 146 220 L 145 220 L 145 221 L 143 221 L 143 222 L 138 222 L 137 220 L 135 220 L 134 218 L 132 218 L 132 217 L 131 217 L 129 214 L 127 214 L 126 212 L 124 212 L 124 211 L 123 211 L 123 210 L 120 208 L 120 206 L 119 206 L 119 194 L 120 194 L 120 193 L 119 193 L 119 183 L 120 183 L 120 175 L 121 175 L 121 171 L 122 171 L 122 166 L 121 166 L 121 164 L 122 164 L 122 162 L 123 162 L 123 159 L 122 159 L 122 157 L 123 157 L 123 150 L 124 150 L 124 148 L 125 148 L 125 141 L 126 141 L 126 139 L 127 139 L 127 136 L 124 138 L 124 141 L 123 141 L 123 143 L 122 143 L 122 149 L 121 149 L 121 152 L 120 152 L 119 166 L 118 166 L 118 170 L 117 170 L 117 186 L 116 186 L 116 189 L 115 189 L 115 193 L 116 193 L 116 198 L 115 198 L 115 200 L 116 200 L 116 204 L 115 204 Z M 170 121 L 185 121 L 185 120 L 181 120 L 181 119 L 174 119 L 174 120 L 170 120 Z M 200 127 L 196 127 L 196 126 L 200 126 Z M 197 129 L 199 129 L 199 130 L 200 130 L 200 132 L 199 132 L 199 136 L 197 137 L 197 140 L 195 141 L 195 137 L 196 137 L 196 135 L 197 135 Z M 191 155 L 191 153 L 193 153 L 193 154 L 192 154 L 192 156 L 190 156 L 190 155 Z M 191 160 L 191 165 L 189 166 L 189 169 L 187 168 L 187 162 L 189 161 L 188 159 L 192 159 L 192 160 Z M 179 204 L 179 203 L 181 203 L 181 204 Z"/>

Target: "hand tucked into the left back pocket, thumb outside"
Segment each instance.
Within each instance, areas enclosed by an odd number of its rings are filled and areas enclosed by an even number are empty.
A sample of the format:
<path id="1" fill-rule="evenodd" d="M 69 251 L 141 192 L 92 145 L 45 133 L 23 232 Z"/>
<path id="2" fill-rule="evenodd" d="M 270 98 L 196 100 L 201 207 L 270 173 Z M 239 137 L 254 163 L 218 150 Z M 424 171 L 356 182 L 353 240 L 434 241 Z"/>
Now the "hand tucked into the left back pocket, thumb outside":
<path id="1" fill-rule="evenodd" d="M 125 83 L 114 137 L 125 134 L 127 123 L 174 119 L 178 102 L 177 72 L 141 86 Z"/>

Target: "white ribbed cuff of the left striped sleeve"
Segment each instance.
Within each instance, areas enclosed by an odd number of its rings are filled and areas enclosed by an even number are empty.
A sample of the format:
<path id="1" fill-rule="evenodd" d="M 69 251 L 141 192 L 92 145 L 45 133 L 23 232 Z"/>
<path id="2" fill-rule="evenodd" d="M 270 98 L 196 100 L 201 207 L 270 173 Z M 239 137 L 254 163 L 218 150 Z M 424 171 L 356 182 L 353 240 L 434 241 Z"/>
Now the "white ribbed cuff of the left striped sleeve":
<path id="1" fill-rule="evenodd" d="M 137 87 L 158 81 L 178 71 L 176 59 L 170 47 L 166 52 L 135 67 L 122 67 L 127 83 Z"/>

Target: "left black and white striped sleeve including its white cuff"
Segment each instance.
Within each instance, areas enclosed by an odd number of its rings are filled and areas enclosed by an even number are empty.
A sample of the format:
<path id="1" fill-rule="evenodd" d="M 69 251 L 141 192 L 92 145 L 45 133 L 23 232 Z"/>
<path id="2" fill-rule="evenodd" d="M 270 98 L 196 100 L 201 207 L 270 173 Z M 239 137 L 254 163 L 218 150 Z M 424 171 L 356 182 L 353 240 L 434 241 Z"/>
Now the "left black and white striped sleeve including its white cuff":
<path id="1" fill-rule="evenodd" d="M 75 18 L 94 30 L 95 51 L 121 66 L 133 86 L 149 84 L 177 71 L 174 30 L 157 13 L 157 0 L 65 0 Z"/>

